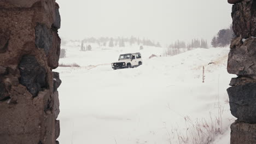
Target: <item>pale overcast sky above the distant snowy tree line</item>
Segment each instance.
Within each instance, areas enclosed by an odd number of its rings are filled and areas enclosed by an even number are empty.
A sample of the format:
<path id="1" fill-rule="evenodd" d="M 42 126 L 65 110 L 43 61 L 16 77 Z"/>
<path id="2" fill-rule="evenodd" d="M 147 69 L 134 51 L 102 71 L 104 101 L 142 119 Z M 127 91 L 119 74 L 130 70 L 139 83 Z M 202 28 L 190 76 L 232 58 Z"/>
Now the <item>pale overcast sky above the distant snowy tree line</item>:
<path id="1" fill-rule="evenodd" d="M 170 44 L 177 39 L 210 40 L 232 22 L 226 0 L 57 0 L 60 37 L 148 38 Z"/>

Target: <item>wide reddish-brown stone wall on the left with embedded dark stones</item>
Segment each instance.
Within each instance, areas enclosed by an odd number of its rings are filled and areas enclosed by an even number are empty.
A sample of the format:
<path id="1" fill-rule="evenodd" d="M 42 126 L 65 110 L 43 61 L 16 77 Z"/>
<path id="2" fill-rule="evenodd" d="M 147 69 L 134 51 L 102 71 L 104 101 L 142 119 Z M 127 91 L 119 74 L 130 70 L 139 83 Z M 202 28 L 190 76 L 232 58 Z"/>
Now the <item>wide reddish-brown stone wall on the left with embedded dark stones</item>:
<path id="1" fill-rule="evenodd" d="M 1 144 L 59 143 L 60 21 L 55 0 L 0 1 Z"/>

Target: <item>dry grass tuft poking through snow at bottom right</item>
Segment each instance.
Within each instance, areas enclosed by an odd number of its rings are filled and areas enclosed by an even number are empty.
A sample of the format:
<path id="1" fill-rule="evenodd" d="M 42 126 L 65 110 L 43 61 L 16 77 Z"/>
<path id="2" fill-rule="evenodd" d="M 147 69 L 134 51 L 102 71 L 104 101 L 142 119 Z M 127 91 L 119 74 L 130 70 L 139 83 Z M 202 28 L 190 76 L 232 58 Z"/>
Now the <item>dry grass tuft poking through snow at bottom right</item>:
<path id="1" fill-rule="evenodd" d="M 202 119 L 191 119 L 189 116 L 184 117 L 185 128 L 176 129 L 176 136 L 179 144 L 210 144 L 218 135 L 223 134 L 223 116 L 224 107 L 218 106 L 218 115 Z"/>

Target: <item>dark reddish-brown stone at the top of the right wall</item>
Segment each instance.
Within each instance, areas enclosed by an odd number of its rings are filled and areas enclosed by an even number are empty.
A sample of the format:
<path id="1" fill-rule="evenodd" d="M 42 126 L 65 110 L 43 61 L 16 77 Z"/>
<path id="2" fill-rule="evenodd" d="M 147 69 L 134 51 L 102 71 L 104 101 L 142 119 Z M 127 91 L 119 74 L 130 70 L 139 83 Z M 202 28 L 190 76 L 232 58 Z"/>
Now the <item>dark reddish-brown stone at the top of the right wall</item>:
<path id="1" fill-rule="evenodd" d="M 243 0 L 232 7 L 233 31 L 237 37 L 256 37 L 256 1 Z"/>

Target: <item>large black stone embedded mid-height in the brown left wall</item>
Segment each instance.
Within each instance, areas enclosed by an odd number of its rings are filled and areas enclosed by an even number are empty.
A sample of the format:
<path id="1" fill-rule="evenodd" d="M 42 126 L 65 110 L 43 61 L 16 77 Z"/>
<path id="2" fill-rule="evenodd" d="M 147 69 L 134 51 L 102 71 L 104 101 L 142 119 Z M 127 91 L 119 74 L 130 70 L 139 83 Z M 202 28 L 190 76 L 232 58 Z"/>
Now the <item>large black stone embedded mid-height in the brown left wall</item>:
<path id="1" fill-rule="evenodd" d="M 37 62 L 36 57 L 30 55 L 22 57 L 19 70 L 20 83 L 27 87 L 33 97 L 47 88 L 46 70 Z"/>

